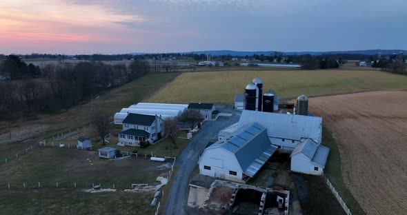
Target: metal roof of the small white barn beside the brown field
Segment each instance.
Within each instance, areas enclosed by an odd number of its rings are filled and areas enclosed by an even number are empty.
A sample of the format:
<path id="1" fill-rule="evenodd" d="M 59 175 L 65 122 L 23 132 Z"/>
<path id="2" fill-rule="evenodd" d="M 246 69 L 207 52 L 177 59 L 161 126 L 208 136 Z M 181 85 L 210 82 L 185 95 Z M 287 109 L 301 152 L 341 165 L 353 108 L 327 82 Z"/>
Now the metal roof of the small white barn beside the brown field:
<path id="1" fill-rule="evenodd" d="M 326 159 L 328 158 L 329 148 L 325 145 L 315 143 L 315 141 L 311 139 L 305 139 L 295 147 L 290 156 L 295 156 L 299 153 L 307 156 L 312 163 L 324 168 Z"/>

